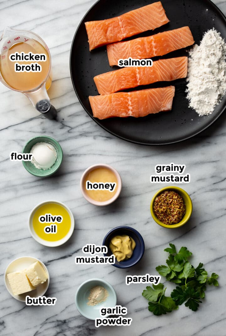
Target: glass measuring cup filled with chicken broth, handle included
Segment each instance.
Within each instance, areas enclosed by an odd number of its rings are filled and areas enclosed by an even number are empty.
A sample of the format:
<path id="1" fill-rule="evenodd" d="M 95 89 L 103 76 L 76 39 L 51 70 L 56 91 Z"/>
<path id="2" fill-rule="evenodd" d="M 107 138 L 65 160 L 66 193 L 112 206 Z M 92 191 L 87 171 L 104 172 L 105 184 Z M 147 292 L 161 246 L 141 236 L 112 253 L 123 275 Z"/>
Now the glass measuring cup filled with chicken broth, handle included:
<path id="1" fill-rule="evenodd" d="M 15 53 L 17 56 L 12 56 Z M 40 62 L 23 60 L 24 54 L 29 53 L 43 54 L 45 60 Z M 17 58 L 16 61 L 12 61 L 10 56 Z M 16 63 L 18 71 L 15 71 Z M 40 68 L 37 71 L 27 71 L 29 64 L 32 63 L 39 65 Z M 36 110 L 45 117 L 56 119 L 56 109 L 51 105 L 47 94 L 52 83 L 50 71 L 50 52 L 40 36 L 30 31 L 10 27 L 4 29 L 0 38 L 0 81 L 8 88 L 25 94 Z"/>

